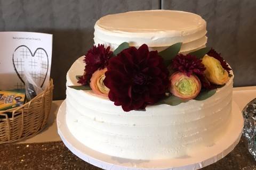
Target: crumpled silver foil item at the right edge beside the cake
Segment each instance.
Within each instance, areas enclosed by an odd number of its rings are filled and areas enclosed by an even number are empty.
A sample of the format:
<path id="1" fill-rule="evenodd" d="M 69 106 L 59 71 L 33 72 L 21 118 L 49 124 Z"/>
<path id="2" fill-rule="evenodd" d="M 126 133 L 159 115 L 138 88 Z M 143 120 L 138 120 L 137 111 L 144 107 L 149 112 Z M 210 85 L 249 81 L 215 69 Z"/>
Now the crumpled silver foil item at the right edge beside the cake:
<path id="1" fill-rule="evenodd" d="M 256 98 L 243 109 L 243 135 L 248 141 L 248 150 L 256 160 Z"/>

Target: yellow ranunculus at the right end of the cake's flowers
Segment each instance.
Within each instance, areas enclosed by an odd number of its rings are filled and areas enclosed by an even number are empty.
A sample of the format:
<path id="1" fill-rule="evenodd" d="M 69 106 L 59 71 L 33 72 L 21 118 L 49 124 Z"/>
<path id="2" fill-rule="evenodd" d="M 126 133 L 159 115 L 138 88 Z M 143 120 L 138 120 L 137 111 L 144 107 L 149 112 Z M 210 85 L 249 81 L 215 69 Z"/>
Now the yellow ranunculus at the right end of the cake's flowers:
<path id="1" fill-rule="evenodd" d="M 206 67 L 204 75 L 211 83 L 225 84 L 229 80 L 227 70 L 223 69 L 219 60 L 209 55 L 202 58 L 202 63 Z"/>

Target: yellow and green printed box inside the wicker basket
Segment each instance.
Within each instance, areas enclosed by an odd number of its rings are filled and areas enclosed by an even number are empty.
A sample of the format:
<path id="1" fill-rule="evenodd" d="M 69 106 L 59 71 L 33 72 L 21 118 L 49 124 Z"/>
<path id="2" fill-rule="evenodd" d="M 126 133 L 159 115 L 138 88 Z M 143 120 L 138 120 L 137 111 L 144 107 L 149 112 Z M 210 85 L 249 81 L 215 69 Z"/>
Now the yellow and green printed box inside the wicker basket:
<path id="1" fill-rule="evenodd" d="M 0 111 L 18 107 L 25 102 L 25 90 L 0 90 Z"/>

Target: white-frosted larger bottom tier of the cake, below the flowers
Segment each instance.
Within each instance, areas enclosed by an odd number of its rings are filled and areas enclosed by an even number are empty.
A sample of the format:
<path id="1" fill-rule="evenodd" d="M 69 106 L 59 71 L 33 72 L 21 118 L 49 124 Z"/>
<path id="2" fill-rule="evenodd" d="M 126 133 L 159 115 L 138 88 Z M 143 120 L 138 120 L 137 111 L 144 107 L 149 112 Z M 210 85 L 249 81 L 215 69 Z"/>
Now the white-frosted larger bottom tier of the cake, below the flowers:
<path id="1" fill-rule="evenodd" d="M 78 85 L 83 57 L 67 73 L 67 86 Z M 66 122 L 85 146 L 103 154 L 130 159 L 189 156 L 211 146 L 225 133 L 231 112 L 233 77 L 212 97 L 177 106 L 147 106 L 146 111 L 124 112 L 92 91 L 67 87 Z"/>

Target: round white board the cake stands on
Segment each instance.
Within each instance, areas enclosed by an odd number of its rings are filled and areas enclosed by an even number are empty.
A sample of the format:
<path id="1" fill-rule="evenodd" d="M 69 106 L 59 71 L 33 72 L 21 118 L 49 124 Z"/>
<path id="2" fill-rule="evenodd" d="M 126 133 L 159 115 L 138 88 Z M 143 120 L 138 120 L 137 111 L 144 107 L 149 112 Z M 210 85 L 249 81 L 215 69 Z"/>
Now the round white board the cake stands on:
<path id="1" fill-rule="evenodd" d="M 168 170 L 190 170 L 200 169 L 207 165 L 213 164 L 225 157 L 232 151 L 239 142 L 244 121 L 242 113 L 233 101 L 231 121 L 227 133 L 215 145 L 208 147 L 204 151 L 196 152 L 182 158 L 164 159 L 164 160 L 132 160 L 113 157 L 101 154 L 98 151 L 92 150 L 81 142 L 69 132 L 66 124 L 66 101 L 61 104 L 57 115 L 58 133 L 66 145 L 66 147 L 76 156 L 83 159 L 85 162 L 98 166 L 102 169 L 116 170 L 116 169 L 168 169 Z"/>

